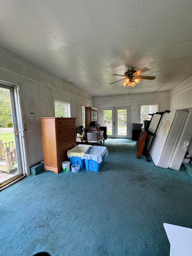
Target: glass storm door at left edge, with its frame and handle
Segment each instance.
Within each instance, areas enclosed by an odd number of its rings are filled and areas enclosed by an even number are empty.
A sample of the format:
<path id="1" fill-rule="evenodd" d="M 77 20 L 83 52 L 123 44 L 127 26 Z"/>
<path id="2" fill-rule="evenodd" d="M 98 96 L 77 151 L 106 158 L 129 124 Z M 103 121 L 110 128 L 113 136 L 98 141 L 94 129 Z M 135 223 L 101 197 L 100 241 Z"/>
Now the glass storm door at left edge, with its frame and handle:
<path id="1" fill-rule="evenodd" d="M 0 188 L 22 175 L 13 87 L 0 84 Z"/>

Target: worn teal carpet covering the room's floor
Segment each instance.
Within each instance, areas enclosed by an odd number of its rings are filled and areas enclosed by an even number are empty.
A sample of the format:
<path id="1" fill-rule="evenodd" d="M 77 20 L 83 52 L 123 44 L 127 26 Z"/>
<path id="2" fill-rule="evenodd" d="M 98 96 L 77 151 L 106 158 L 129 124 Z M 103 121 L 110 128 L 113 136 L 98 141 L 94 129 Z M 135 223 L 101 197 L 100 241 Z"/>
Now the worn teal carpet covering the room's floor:
<path id="1" fill-rule="evenodd" d="M 96 173 L 51 171 L 0 192 L 0 255 L 168 256 L 163 223 L 192 228 L 192 177 L 108 139 Z"/>

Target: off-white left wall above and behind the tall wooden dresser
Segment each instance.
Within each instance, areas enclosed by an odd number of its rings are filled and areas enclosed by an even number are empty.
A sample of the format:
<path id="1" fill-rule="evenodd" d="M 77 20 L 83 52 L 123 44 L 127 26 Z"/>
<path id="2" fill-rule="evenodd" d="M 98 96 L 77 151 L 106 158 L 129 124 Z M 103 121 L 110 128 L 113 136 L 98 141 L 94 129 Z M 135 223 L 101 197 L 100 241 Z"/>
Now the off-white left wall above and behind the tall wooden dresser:
<path id="1" fill-rule="evenodd" d="M 71 117 L 82 125 L 81 105 L 93 106 L 93 97 L 0 49 L 0 80 L 20 85 L 29 166 L 43 160 L 40 117 L 53 117 L 53 98 L 70 102 Z M 35 112 L 35 117 L 29 117 Z"/>

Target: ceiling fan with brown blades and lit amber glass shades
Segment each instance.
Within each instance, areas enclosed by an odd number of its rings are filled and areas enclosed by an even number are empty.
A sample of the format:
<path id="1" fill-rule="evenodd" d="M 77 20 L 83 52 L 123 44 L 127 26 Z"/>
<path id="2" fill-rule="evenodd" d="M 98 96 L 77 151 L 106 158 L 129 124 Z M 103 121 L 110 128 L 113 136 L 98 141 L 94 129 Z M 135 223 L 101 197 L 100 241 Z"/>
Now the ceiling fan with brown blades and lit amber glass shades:
<path id="1" fill-rule="evenodd" d="M 125 77 L 113 83 L 117 83 L 119 81 L 124 80 L 124 82 L 122 83 L 122 86 L 125 87 L 127 85 L 128 87 L 134 87 L 136 86 L 136 83 L 140 82 L 141 79 L 154 80 L 155 77 L 140 76 L 141 73 L 146 72 L 148 70 L 149 68 L 142 68 L 138 71 L 133 70 L 133 68 L 128 68 L 128 71 L 125 72 L 125 75 L 112 74 L 113 76 Z M 113 84 L 113 83 L 110 83 L 110 84 Z"/>

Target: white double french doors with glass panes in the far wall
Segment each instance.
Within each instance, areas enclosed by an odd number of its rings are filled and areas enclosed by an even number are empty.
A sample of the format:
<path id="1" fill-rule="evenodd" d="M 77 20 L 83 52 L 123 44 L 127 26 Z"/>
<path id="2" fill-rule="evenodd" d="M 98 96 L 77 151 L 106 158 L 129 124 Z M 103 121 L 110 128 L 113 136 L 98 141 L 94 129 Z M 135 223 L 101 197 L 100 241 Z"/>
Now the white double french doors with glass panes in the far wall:
<path id="1" fill-rule="evenodd" d="M 101 108 L 101 123 L 109 138 L 130 138 L 130 107 Z"/>

